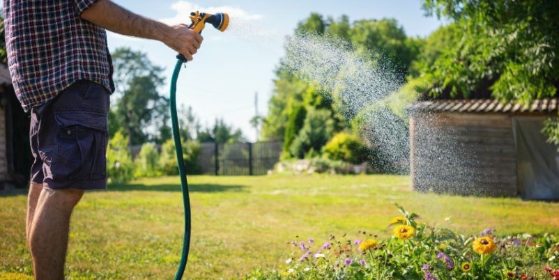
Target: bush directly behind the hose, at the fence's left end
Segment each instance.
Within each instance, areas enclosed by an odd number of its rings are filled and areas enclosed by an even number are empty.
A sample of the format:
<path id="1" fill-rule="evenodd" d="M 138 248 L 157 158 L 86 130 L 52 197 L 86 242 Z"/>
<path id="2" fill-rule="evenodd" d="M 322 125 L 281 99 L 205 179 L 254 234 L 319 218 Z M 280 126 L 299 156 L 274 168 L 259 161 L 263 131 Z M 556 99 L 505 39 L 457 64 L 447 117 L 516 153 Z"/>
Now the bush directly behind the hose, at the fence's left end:
<path id="1" fill-rule="evenodd" d="M 183 160 L 187 174 L 201 173 L 201 165 L 199 161 L 200 143 L 195 141 L 187 141 L 183 143 Z M 161 146 L 161 155 L 159 158 L 160 171 L 164 175 L 177 175 L 178 165 L 176 163 L 175 142 L 169 139 Z"/>

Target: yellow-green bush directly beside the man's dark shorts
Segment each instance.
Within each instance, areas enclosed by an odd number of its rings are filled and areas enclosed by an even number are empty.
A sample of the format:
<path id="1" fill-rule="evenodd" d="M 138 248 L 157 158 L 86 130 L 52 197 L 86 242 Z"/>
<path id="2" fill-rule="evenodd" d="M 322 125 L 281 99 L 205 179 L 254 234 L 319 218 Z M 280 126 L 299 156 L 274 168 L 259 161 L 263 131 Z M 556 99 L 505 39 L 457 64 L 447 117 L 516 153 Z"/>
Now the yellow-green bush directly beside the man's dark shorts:
<path id="1" fill-rule="evenodd" d="M 107 148 L 107 181 L 127 182 L 134 178 L 134 164 L 128 151 L 128 137 L 119 131 L 109 141 Z"/>

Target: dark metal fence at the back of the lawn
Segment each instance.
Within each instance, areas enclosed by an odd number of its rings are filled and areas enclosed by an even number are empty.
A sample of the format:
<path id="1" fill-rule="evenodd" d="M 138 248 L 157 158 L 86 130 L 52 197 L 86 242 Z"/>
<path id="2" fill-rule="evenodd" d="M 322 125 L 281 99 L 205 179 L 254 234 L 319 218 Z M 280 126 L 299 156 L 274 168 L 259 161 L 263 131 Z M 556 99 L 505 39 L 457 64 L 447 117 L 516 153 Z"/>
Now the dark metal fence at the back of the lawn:
<path id="1" fill-rule="evenodd" d="M 280 160 L 282 141 L 256 143 L 201 143 L 203 174 L 263 175 Z"/>

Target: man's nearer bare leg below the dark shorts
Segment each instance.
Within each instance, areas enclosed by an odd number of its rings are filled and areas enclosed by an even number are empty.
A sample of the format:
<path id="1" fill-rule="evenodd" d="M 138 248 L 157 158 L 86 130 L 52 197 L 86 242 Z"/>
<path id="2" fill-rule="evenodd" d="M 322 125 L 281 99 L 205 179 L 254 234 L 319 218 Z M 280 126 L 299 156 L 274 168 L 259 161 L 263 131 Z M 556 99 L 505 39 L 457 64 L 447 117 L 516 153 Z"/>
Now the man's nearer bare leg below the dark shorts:
<path id="1" fill-rule="evenodd" d="M 79 189 L 40 192 L 29 235 L 35 279 L 64 279 L 70 215 L 83 194 Z"/>

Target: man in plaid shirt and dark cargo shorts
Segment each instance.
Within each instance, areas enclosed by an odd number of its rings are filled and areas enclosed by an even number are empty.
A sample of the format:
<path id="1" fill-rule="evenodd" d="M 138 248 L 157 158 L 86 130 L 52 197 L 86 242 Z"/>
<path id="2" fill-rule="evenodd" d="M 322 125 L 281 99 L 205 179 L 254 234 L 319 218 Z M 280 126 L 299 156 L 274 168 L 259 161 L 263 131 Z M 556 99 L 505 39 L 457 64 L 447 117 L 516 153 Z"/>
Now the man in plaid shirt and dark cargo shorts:
<path id="1" fill-rule="evenodd" d="M 192 60 L 201 36 L 109 0 L 4 0 L 8 66 L 31 111 L 26 238 L 35 278 L 63 279 L 73 208 L 106 188 L 107 111 L 114 91 L 105 29 L 160 40 Z"/>

